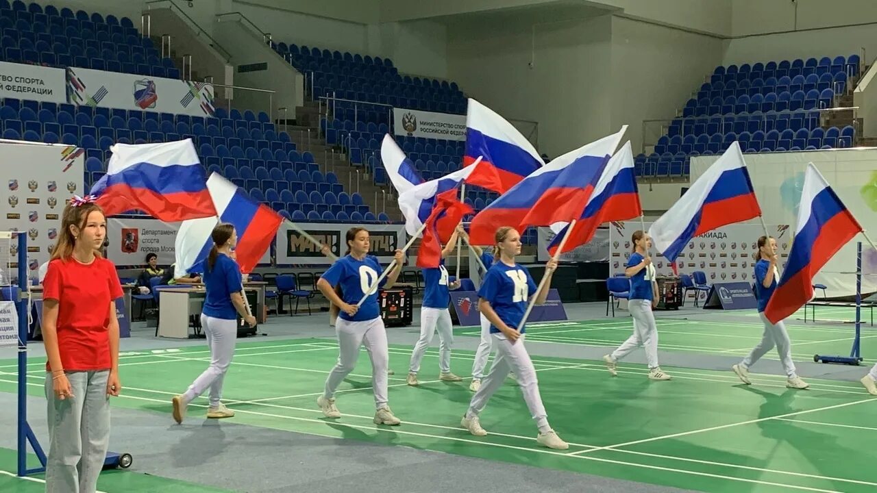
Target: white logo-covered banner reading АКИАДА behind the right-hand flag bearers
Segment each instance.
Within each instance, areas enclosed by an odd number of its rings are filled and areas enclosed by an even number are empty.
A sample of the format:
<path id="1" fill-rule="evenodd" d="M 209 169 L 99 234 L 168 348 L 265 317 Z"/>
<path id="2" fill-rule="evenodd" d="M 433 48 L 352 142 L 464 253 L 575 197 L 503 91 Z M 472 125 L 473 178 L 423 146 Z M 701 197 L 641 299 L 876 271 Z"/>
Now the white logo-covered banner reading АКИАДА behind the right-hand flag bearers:
<path id="1" fill-rule="evenodd" d="M 645 223 L 645 230 L 652 226 Z M 642 229 L 639 221 L 613 222 L 610 226 L 610 275 L 624 272 L 627 260 L 631 258 L 631 235 Z M 777 254 L 780 256 L 780 269 L 786 267 L 788 251 L 792 247 L 792 232 L 788 225 L 767 225 L 767 231 L 776 239 Z M 711 232 L 705 232 L 688 242 L 679 257 L 676 267 L 679 274 L 692 275 L 700 270 L 707 277 L 707 284 L 722 282 L 753 282 L 755 261 L 752 254 L 758 250 L 756 242 L 764 236 L 761 225 L 726 225 Z M 657 275 L 674 275 L 671 262 L 652 248 Z M 701 299 L 706 296 L 701 292 Z M 689 290 L 688 298 L 694 299 L 695 292 Z"/>

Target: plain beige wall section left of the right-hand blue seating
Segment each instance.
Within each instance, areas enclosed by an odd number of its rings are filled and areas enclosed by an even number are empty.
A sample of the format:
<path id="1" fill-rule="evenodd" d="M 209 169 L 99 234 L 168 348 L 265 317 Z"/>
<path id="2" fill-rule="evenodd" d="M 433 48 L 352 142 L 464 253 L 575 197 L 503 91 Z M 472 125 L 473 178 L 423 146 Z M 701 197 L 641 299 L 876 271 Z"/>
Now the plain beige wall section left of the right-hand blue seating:
<path id="1" fill-rule="evenodd" d="M 639 154 L 643 120 L 672 118 L 721 61 L 721 39 L 613 17 L 611 126 Z"/>

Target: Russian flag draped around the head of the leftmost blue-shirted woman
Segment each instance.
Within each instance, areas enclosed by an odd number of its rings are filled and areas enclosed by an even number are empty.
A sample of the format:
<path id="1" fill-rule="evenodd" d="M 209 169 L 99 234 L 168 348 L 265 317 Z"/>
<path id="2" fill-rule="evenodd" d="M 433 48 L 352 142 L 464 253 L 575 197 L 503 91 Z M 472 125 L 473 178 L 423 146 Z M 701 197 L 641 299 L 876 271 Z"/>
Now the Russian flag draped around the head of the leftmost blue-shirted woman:
<path id="1" fill-rule="evenodd" d="M 254 201 L 250 196 L 217 173 L 210 175 L 207 189 L 216 205 L 218 218 L 188 220 L 176 234 L 176 275 L 203 272 L 203 261 L 210 254 L 210 233 L 219 223 L 231 223 L 238 233 L 237 255 L 240 271 L 249 274 L 259 264 L 283 222 L 281 215 Z"/>

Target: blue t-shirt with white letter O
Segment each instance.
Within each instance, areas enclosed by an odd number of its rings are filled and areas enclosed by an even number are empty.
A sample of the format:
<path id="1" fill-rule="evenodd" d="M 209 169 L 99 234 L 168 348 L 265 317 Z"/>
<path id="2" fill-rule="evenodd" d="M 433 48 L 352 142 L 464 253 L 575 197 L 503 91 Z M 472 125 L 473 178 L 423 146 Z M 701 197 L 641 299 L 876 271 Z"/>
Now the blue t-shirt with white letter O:
<path id="1" fill-rule="evenodd" d="M 344 303 L 358 304 L 368 288 L 381 276 L 382 270 L 381 263 L 378 262 L 377 257 L 374 255 L 367 255 L 361 261 L 354 259 L 351 255 L 346 255 L 335 261 L 332 267 L 320 277 L 329 282 L 332 288 L 339 284 L 341 285 L 343 293 L 341 299 L 344 300 Z M 387 278 L 384 277 L 381 280 L 381 285 L 378 287 L 380 288 L 386 283 Z M 366 301 L 362 302 L 360 310 L 353 317 L 347 315 L 344 311 L 339 313 L 340 318 L 351 322 L 371 320 L 380 316 L 381 310 L 378 306 L 377 289 L 374 289 L 374 293 L 369 295 Z"/>

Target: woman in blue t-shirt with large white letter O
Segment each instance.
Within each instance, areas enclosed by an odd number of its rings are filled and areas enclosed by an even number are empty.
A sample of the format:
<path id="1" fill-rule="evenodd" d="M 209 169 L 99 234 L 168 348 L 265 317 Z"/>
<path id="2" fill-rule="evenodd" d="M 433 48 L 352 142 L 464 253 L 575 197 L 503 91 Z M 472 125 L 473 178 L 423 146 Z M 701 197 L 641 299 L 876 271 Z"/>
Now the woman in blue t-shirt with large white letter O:
<path id="1" fill-rule="evenodd" d="M 384 329 L 381 309 L 378 305 L 378 287 L 391 288 L 402 271 L 404 254 L 396 250 L 396 267 L 389 271 L 380 286 L 374 282 L 381 276 L 381 264 L 377 257 L 369 255 L 370 241 L 368 230 L 353 227 L 347 230 L 347 254 L 332 264 L 320 276 L 317 289 L 332 304 L 339 307 L 339 318 L 335 322 L 338 334 L 339 357 L 329 377 L 326 378 L 322 396 L 317 397 L 317 405 L 326 418 L 340 418 L 341 412 L 335 406 L 335 389 L 356 367 L 360 347 L 365 346 L 372 360 L 372 386 L 374 389 L 374 423 L 377 425 L 398 425 L 399 418 L 393 416 L 387 405 L 387 368 L 389 349 L 387 331 Z M 341 287 L 339 297 L 335 291 Z M 374 289 L 371 289 L 374 286 Z M 371 290 L 369 290 L 371 289 Z M 368 292 L 368 297 L 360 305 L 360 299 Z"/>

